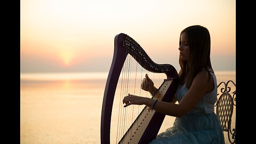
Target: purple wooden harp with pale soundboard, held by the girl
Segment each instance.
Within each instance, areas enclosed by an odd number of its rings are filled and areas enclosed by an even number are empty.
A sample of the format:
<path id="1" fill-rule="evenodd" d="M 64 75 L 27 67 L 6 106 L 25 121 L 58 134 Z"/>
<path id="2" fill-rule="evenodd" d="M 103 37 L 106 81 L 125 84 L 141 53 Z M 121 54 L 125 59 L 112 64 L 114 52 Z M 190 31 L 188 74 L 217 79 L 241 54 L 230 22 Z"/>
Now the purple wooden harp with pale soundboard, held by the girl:
<path id="1" fill-rule="evenodd" d="M 178 73 L 172 65 L 157 64 L 152 61 L 142 47 L 126 34 L 118 34 L 114 39 L 114 56 L 109 70 L 101 109 L 101 143 L 110 143 L 110 122 L 118 78 L 127 55 L 135 59 L 141 67 L 152 73 L 163 73 L 166 78 L 159 86 L 153 99 L 171 102 L 178 88 Z M 139 86 L 140 87 L 140 86 Z M 129 129 L 125 130 L 117 143 L 148 143 L 154 138 L 163 123 L 165 115 L 145 106 Z"/>

